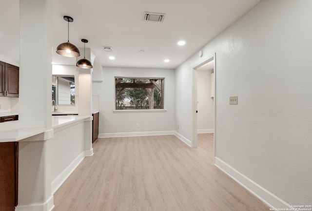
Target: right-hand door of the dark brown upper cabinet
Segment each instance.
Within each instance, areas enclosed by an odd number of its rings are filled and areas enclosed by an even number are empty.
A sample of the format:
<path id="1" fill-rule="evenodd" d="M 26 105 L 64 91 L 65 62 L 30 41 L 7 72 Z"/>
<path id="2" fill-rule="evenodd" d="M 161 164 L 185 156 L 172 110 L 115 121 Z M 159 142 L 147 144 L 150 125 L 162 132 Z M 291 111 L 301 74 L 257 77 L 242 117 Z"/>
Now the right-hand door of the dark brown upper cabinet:
<path id="1" fill-rule="evenodd" d="M 7 96 L 19 96 L 19 67 L 5 63 L 5 90 Z"/>

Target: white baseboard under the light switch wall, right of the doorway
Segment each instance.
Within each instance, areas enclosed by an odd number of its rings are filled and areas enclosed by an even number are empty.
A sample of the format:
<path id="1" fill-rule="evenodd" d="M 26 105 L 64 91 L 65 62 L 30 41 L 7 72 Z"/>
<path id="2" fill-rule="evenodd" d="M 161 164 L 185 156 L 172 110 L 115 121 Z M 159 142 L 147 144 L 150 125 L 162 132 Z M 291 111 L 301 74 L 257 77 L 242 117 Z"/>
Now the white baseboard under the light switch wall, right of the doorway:
<path id="1" fill-rule="evenodd" d="M 291 205 L 278 198 L 272 192 L 264 189 L 259 184 L 255 183 L 253 180 L 238 172 L 232 166 L 228 165 L 223 160 L 217 157 L 215 157 L 215 166 L 224 173 L 228 174 L 230 177 L 232 177 L 236 182 L 238 182 L 249 192 L 253 193 L 257 198 L 266 203 L 269 207 L 273 209 L 292 208 Z"/>

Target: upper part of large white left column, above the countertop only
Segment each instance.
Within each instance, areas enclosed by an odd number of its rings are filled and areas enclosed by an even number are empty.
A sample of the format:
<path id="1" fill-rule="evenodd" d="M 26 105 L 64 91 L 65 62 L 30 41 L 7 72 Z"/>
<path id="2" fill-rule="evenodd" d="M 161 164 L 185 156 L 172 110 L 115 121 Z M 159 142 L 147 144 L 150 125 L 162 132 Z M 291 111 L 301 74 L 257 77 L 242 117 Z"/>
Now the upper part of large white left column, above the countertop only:
<path id="1" fill-rule="evenodd" d="M 50 128 L 52 0 L 20 0 L 20 128 Z"/>

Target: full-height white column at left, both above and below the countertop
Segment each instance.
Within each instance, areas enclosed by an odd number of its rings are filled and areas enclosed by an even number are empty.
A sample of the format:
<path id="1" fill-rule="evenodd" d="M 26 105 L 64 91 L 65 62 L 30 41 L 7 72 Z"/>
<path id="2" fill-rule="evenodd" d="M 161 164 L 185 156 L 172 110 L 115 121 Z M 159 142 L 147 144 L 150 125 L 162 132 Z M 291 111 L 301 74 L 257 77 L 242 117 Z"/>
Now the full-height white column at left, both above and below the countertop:
<path id="1" fill-rule="evenodd" d="M 53 209 L 47 142 L 51 130 L 52 0 L 20 0 L 19 128 L 46 133 L 19 143 L 16 211 Z"/>

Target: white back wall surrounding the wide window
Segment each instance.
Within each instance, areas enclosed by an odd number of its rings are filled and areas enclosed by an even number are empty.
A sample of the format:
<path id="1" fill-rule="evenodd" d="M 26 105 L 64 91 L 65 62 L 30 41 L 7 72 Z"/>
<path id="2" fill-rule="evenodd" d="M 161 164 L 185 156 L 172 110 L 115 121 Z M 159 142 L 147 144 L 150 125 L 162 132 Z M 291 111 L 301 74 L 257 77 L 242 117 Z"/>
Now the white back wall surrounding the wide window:
<path id="1" fill-rule="evenodd" d="M 113 113 L 115 77 L 164 77 L 166 112 Z M 103 81 L 93 82 L 92 92 L 99 97 L 99 136 L 174 131 L 174 70 L 140 68 L 103 68 Z M 139 124 L 139 128 L 137 128 Z"/>

